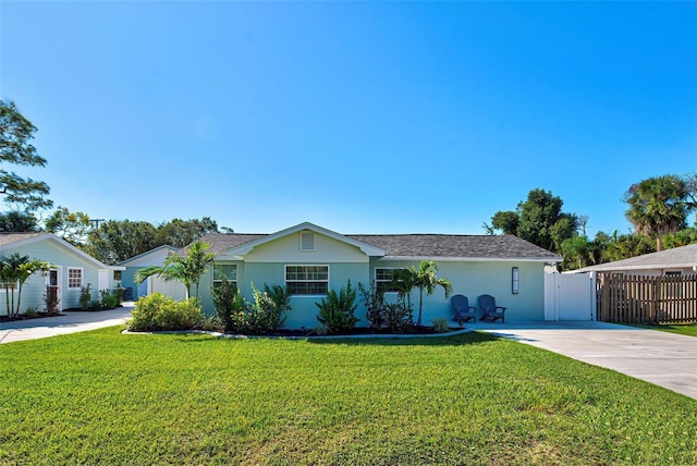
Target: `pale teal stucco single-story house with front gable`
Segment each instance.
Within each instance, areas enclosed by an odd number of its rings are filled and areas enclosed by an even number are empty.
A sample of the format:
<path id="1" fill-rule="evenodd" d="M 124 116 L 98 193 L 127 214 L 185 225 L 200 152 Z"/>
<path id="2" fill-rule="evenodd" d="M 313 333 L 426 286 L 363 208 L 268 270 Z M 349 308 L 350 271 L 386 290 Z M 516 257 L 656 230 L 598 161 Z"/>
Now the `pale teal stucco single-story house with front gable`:
<path id="1" fill-rule="evenodd" d="M 513 235 L 453 234 L 340 234 L 313 223 L 301 223 L 271 234 L 208 234 L 216 262 L 200 282 L 204 311 L 213 314 L 211 286 L 225 277 L 242 295 L 253 299 L 252 283 L 281 284 L 292 293 L 285 327 L 314 328 L 317 307 L 330 289 L 348 280 L 354 286 L 391 279 L 392 270 L 420 260 L 438 263 L 439 277 L 448 278 L 455 294 L 477 303 L 481 294 L 496 296 L 506 306 L 506 321 L 545 320 L 545 266 L 561 256 Z M 387 298 L 396 298 L 388 293 Z M 418 303 L 414 291 L 412 303 Z M 366 309 L 356 317 L 365 326 Z M 424 323 L 436 317 L 452 318 L 450 299 L 442 290 L 424 298 Z"/>

